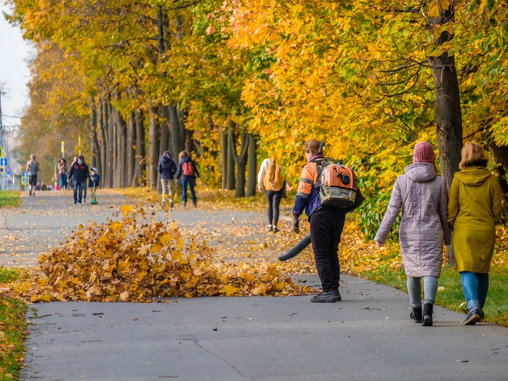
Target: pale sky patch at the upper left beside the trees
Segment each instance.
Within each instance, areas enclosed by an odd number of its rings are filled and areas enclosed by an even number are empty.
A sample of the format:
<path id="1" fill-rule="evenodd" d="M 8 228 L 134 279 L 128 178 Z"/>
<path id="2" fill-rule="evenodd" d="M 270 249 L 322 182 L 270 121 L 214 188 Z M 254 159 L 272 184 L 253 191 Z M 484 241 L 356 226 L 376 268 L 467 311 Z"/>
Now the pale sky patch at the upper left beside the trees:
<path id="1" fill-rule="evenodd" d="M 0 0 L 0 10 L 10 8 Z M 6 82 L 7 96 L 2 97 L 2 113 L 19 116 L 28 102 L 26 83 L 29 79 L 27 59 L 32 48 L 23 40 L 18 27 L 11 26 L 0 12 L 0 81 Z M 4 117 L 6 125 L 19 123 L 19 119 Z"/>

